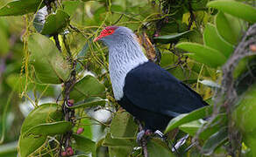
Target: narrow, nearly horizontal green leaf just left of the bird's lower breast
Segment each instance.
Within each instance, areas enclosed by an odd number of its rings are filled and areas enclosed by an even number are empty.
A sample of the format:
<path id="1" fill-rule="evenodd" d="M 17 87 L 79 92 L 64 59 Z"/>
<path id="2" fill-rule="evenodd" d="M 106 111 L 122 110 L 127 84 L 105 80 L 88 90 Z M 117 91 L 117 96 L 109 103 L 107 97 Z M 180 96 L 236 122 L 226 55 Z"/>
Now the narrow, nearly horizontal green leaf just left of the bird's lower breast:
<path id="1" fill-rule="evenodd" d="M 89 99 L 84 99 L 78 103 L 75 103 L 74 106 L 69 106 L 68 108 L 85 108 L 91 106 L 104 106 L 108 99 L 101 99 L 99 97 L 91 97 Z"/>

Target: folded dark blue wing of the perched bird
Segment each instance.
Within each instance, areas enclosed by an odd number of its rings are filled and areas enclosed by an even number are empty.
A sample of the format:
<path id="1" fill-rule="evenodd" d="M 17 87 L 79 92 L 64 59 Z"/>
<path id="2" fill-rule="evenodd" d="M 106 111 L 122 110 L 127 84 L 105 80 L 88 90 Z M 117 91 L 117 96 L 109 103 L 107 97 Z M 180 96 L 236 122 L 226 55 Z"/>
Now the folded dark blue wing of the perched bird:
<path id="1" fill-rule="evenodd" d="M 126 75 L 124 96 L 134 106 L 170 117 L 206 104 L 198 93 L 152 62 L 139 65 Z"/>

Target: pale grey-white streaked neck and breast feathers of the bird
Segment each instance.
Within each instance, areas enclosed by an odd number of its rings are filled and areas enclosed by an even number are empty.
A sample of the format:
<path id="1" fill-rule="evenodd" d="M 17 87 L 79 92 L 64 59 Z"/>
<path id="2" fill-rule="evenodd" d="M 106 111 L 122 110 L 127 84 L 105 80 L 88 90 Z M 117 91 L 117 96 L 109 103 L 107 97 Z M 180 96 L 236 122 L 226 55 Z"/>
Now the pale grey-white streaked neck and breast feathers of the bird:
<path id="1" fill-rule="evenodd" d="M 148 61 L 134 36 L 134 34 L 127 35 L 125 41 L 109 45 L 110 79 L 117 100 L 124 96 L 123 88 L 127 73 Z"/>

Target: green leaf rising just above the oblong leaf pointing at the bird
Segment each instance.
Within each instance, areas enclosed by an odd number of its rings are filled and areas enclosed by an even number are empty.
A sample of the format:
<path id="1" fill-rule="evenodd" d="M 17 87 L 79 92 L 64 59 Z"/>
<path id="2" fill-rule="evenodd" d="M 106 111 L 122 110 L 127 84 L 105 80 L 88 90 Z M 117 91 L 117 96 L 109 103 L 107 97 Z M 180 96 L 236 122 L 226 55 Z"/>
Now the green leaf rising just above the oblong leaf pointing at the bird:
<path id="1" fill-rule="evenodd" d="M 216 27 L 212 24 L 207 24 L 203 31 L 203 43 L 222 52 L 226 58 L 234 51 L 234 47 L 218 35 Z"/>

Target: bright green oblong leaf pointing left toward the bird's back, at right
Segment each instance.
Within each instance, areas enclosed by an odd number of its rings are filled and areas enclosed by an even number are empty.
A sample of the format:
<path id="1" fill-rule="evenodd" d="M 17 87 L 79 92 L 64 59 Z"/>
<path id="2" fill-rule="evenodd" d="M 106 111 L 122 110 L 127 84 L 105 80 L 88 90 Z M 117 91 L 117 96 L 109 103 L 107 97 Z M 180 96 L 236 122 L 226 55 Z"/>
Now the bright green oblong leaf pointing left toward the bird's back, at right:
<path id="1" fill-rule="evenodd" d="M 224 65 L 226 61 L 226 58 L 220 51 L 202 44 L 183 42 L 181 44 L 176 44 L 176 48 L 190 52 L 185 55 L 188 55 L 189 57 L 196 59 L 196 61 L 209 65 L 213 68 Z"/>

